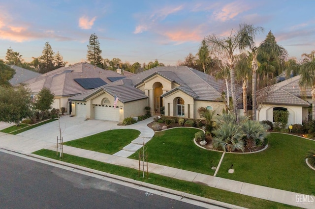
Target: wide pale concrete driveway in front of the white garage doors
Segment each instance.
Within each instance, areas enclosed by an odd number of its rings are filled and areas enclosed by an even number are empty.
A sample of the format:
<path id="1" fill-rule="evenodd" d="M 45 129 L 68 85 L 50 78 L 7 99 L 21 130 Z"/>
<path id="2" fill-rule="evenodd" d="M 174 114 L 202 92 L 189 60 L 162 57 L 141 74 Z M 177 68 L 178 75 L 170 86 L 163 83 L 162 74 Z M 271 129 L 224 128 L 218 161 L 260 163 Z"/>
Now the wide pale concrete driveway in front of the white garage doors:
<path id="1" fill-rule="evenodd" d="M 114 121 L 85 120 L 84 118 L 71 117 L 69 115 L 64 115 L 60 118 L 63 142 L 93 135 L 102 131 L 122 128 L 122 126 L 117 126 L 117 124 L 118 122 Z M 17 135 L 56 143 L 57 136 L 60 137 L 59 121 L 56 120 Z"/>

